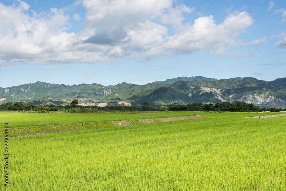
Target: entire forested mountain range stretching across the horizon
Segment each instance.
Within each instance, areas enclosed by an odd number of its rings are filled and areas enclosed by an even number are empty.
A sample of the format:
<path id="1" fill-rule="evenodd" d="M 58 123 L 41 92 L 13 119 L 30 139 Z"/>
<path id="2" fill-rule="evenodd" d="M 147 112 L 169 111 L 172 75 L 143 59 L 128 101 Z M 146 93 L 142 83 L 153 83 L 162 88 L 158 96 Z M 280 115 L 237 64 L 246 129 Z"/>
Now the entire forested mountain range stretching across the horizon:
<path id="1" fill-rule="evenodd" d="M 22 101 L 31 105 L 69 105 L 78 99 L 81 105 L 104 106 L 135 105 L 147 101 L 150 106 L 177 102 L 222 103 L 245 101 L 260 107 L 286 107 L 286 78 L 273 81 L 252 77 L 217 80 L 214 78 L 178 77 L 144 85 L 122 82 L 116 85 L 101 84 L 50 84 L 36 82 L 0 88 L 0 104 Z M 103 104 L 104 103 L 104 104 Z"/>

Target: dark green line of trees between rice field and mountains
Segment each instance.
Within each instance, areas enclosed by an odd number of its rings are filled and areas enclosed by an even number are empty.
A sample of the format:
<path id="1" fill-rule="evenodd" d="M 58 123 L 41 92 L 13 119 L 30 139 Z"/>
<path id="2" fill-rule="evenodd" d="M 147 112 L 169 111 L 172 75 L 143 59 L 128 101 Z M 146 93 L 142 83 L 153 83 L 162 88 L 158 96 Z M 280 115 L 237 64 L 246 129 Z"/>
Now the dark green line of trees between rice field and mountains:
<path id="1" fill-rule="evenodd" d="M 189 103 L 187 105 L 180 105 L 174 102 L 171 105 L 152 107 L 149 106 L 148 102 L 143 102 L 142 106 L 78 106 L 78 100 L 73 100 L 70 105 L 67 106 L 34 106 L 34 105 L 25 105 L 21 102 L 11 103 L 8 102 L 4 105 L 0 105 L 1 111 L 20 111 L 20 112 L 39 112 L 39 113 L 48 113 L 50 111 L 62 111 L 65 113 L 97 113 L 101 112 L 113 112 L 113 111 L 230 111 L 230 112 L 279 112 L 286 111 L 282 108 L 260 108 L 259 106 L 254 106 L 252 103 L 246 103 L 241 101 L 235 101 L 233 103 L 223 102 L 223 103 Z"/>

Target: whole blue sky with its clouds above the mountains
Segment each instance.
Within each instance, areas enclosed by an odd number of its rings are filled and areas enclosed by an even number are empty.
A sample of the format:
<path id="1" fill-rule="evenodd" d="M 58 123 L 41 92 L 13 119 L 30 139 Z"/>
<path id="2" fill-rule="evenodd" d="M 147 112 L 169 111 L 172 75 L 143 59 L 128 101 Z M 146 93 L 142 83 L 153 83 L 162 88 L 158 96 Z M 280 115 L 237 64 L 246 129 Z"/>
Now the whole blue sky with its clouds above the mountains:
<path id="1" fill-rule="evenodd" d="M 286 1 L 0 1 L 0 87 L 286 77 Z"/>

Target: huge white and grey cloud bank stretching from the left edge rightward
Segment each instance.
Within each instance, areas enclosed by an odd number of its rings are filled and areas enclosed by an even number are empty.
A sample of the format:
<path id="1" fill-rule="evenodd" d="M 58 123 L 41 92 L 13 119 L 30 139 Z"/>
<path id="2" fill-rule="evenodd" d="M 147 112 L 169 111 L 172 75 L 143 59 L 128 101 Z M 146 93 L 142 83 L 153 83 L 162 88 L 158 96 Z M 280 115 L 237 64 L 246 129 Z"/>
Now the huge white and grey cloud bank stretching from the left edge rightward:
<path id="1" fill-rule="evenodd" d="M 188 14 L 194 8 L 177 1 L 175 5 L 175 0 L 83 0 L 87 12 L 82 30 L 68 32 L 71 18 L 66 8 L 31 16 L 30 6 L 17 2 L 0 14 L 0 44 L 5 44 L 0 47 L 0 65 L 106 63 L 120 57 L 146 61 L 158 52 L 189 54 L 219 40 L 223 43 L 215 54 L 223 54 L 254 22 L 247 12 L 236 11 L 218 24 L 212 15 L 190 24 Z M 6 9 L 0 2 L 0 10 Z"/>

